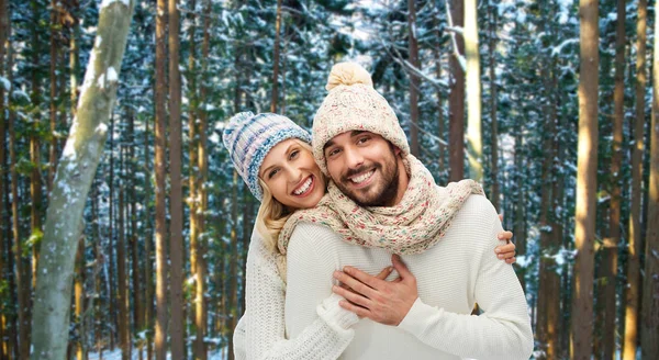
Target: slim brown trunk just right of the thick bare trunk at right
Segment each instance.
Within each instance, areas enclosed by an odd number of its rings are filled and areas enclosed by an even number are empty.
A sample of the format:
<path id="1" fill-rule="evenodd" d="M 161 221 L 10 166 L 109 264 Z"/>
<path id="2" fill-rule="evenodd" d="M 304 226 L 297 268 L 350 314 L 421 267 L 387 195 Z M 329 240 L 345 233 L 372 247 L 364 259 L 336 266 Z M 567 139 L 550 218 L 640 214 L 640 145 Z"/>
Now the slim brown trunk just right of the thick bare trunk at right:
<path id="1" fill-rule="evenodd" d="M 611 158 L 611 203 L 608 214 L 608 236 L 604 237 L 604 254 L 602 258 L 603 273 L 605 278 L 604 317 L 602 326 L 602 359 L 611 360 L 615 356 L 615 317 L 616 310 L 616 278 L 617 278 L 617 245 L 621 238 L 621 171 L 622 171 L 622 145 L 623 122 L 625 116 L 625 1 L 617 1 L 617 22 L 615 40 L 615 88 L 613 92 L 614 116 L 613 116 L 613 148 Z"/>

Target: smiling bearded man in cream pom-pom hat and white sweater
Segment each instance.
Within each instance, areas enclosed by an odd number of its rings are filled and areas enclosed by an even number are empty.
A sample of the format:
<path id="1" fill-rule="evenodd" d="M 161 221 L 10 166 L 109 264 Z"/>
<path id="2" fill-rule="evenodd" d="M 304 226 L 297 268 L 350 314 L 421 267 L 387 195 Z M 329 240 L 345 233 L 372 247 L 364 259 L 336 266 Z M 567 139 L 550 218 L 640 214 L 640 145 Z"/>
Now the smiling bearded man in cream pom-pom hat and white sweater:
<path id="1" fill-rule="evenodd" d="M 347 195 L 336 195 L 330 184 L 328 196 L 346 202 L 334 215 L 353 222 L 355 232 L 378 233 L 377 220 L 394 214 L 394 222 L 424 225 L 411 227 L 423 234 L 400 232 L 394 223 L 373 237 L 376 244 L 366 244 L 371 247 L 355 246 L 340 229 L 339 236 L 301 216 L 287 249 L 288 336 L 294 338 L 319 316 L 344 312 L 339 322 L 328 323 L 355 331 L 345 359 L 528 359 L 533 334 L 523 290 L 512 267 L 492 251 L 502 230 L 495 210 L 480 195 L 456 198 L 438 187 L 420 192 L 429 175 L 409 155 L 393 110 L 365 72 L 355 65 L 335 66 L 314 117 L 316 162 Z M 389 230 L 404 238 L 388 238 Z M 392 257 L 392 249 L 413 255 Z M 390 263 L 396 280 L 370 275 Z M 345 297 L 340 307 L 326 300 L 332 292 Z M 470 315 L 476 302 L 480 316 Z"/>

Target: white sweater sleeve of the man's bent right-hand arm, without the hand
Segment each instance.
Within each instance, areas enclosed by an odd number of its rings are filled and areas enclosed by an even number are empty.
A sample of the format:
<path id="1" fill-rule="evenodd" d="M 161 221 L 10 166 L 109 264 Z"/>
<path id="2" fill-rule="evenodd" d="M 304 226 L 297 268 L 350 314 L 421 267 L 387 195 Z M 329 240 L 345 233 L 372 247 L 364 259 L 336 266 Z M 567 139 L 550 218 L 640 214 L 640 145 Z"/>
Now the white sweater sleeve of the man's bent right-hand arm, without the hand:
<path id="1" fill-rule="evenodd" d="M 493 210 L 492 210 L 493 211 Z M 456 314 L 416 299 L 399 327 L 421 341 L 461 357 L 528 359 L 533 333 L 526 299 L 512 267 L 491 254 L 501 224 L 494 221 L 489 239 L 480 241 L 474 299 L 480 316 Z M 490 240 L 491 239 L 491 240 Z M 474 255 L 476 256 L 476 255 Z"/>

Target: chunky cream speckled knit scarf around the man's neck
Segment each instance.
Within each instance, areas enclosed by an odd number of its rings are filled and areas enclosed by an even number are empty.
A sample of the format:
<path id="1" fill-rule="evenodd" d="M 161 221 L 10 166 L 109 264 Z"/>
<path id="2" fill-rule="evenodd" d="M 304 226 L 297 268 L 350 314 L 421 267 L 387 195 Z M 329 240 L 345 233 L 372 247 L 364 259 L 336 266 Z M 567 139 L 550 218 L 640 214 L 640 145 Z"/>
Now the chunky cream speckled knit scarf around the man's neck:
<path id="1" fill-rule="evenodd" d="M 299 222 L 328 226 L 355 245 L 400 255 L 420 254 L 439 241 L 469 195 L 484 195 L 473 180 L 437 187 L 431 172 L 412 155 L 403 162 L 410 182 L 399 204 L 361 207 L 330 181 L 316 207 L 297 211 L 287 221 L 278 239 L 281 255 L 286 255 Z"/>

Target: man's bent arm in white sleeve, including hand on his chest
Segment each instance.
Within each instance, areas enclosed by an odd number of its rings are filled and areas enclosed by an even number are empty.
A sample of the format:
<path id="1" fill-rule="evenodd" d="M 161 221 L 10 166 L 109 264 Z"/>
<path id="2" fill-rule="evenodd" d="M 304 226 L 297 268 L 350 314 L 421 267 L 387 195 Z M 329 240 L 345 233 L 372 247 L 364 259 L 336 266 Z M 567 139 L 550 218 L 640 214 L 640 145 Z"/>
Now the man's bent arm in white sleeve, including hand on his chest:
<path id="1" fill-rule="evenodd" d="M 378 281 L 350 267 L 344 270 L 347 274 L 338 272 L 337 280 L 365 295 L 334 288 L 351 302 L 344 301 L 342 306 L 375 322 L 398 325 L 422 342 L 456 356 L 528 359 L 533 351 L 533 334 L 526 300 L 513 269 L 498 260 L 492 251 L 500 244 L 496 235 L 501 232 L 494 210 L 487 200 L 479 201 L 482 201 L 478 206 L 483 226 L 470 232 L 473 241 L 466 244 L 473 251 L 468 271 L 476 279 L 473 299 L 484 311 L 482 315 L 451 313 L 423 303 L 417 296 L 414 275 L 396 258 L 393 265 L 401 278 L 391 283 Z"/>

